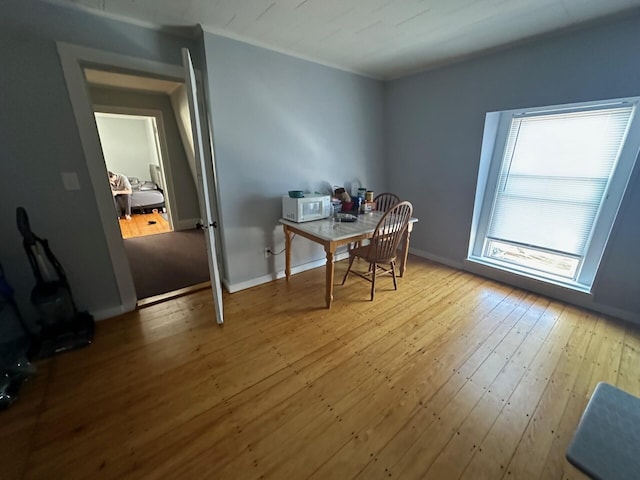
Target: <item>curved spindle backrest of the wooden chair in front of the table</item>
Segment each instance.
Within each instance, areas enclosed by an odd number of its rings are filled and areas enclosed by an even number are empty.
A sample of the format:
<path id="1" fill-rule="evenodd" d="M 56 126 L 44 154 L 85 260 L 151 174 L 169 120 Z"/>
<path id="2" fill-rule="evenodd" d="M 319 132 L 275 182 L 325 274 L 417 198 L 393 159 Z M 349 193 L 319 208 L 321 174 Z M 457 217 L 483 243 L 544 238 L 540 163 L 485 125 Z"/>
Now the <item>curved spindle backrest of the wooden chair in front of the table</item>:
<path id="1" fill-rule="evenodd" d="M 367 251 L 369 262 L 388 263 L 395 258 L 412 213 L 413 205 L 406 201 L 387 210 L 371 237 Z"/>

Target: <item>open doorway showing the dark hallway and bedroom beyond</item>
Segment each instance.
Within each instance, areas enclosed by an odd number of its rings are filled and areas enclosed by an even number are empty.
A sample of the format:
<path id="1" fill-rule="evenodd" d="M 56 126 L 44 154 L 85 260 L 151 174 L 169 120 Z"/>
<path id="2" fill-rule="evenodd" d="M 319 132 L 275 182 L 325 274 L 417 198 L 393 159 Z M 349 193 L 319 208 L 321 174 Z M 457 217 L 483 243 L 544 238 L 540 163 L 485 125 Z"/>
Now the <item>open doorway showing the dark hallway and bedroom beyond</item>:
<path id="1" fill-rule="evenodd" d="M 182 85 L 95 67 L 85 69 L 85 76 L 105 175 L 123 175 L 131 185 L 131 215 L 119 215 L 118 224 L 138 305 L 205 284 L 206 244 L 195 229 L 199 212 L 189 147 L 171 101 Z"/>

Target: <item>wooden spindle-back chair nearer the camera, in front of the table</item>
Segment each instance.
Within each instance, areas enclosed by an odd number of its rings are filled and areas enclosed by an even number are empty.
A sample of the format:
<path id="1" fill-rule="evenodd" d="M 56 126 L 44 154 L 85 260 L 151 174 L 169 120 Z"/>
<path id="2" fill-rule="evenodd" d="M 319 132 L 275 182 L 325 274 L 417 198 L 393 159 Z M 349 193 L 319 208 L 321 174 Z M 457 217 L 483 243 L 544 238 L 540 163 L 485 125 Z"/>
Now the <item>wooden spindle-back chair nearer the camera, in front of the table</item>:
<path id="1" fill-rule="evenodd" d="M 349 251 L 349 267 L 342 279 L 342 285 L 347 281 L 349 273 L 354 273 L 371 282 L 371 300 L 373 300 L 376 289 L 376 276 L 379 274 L 388 274 L 393 277 L 393 288 L 395 290 L 398 289 L 395 271 L 398 244 L 407 229 L 412 213 L 413 206 L 409 202 L 397 203 L 387 210 L 378 222 L 370 242 L 367 245 L 353 248 Z M 362 258 L 369 263 L 369 270 L 367 272 L 351 270 L 356 257 Z M 389 265 L 389 268 L 381 264 Z"/>

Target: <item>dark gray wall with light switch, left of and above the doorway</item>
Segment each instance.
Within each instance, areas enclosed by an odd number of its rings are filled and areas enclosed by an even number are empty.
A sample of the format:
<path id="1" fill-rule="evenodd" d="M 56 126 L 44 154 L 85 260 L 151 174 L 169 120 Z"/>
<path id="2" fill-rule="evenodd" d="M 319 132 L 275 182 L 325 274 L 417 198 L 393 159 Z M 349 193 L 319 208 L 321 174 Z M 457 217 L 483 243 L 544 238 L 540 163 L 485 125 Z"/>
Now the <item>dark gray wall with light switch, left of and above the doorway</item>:
<path id="1" fill-rule="evenodd" d="M 113 309 L 121 300 L 55 42 L 177 65 L 180 47 L 196 45 L 37 1 L 1 2 L 0 31 L 0 262 L 23 314 L 34 318 L 35 280 L 15 223 L 24 206 L 64 266 L 78 307 Z M 77 172 L 81 189 L 64 190 L 61 172 Z"/>

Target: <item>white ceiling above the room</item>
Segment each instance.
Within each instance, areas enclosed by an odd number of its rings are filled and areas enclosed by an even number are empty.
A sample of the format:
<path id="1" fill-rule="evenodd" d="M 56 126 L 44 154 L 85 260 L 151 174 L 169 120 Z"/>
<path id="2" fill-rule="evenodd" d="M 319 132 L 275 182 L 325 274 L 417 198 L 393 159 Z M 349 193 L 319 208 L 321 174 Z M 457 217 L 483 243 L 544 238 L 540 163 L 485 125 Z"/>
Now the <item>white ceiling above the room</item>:
<path id="1" fill-rule="evenodd" d="M 50 0 L 396 78 L 640 7 L 640 0 Z"/>

